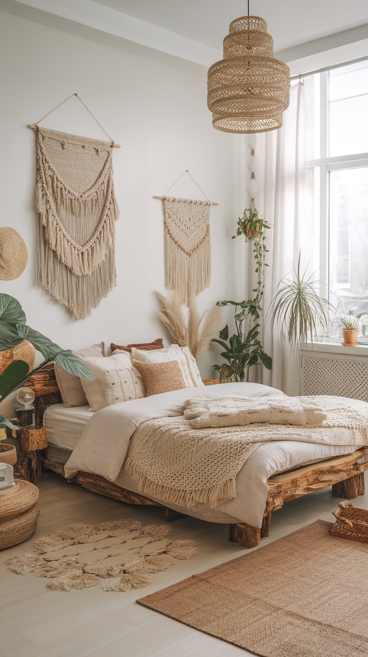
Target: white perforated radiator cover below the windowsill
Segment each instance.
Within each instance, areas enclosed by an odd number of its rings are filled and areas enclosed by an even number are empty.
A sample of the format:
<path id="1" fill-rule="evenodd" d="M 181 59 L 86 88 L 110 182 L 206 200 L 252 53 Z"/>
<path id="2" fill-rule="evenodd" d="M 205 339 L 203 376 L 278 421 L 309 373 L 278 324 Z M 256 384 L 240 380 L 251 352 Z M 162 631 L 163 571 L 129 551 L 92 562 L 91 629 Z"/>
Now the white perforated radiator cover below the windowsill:
<path id="1" fill-rule="evenodd" d="M 318 351 L 301 352 L 302 394 L 368 401 L 368 353 L 333 353 L 331 345 L 328 345 L 329 351 L 322 351 L 321 344 L 318 347 Z M 341 351 L 340 345 L 337 350 Z"/>

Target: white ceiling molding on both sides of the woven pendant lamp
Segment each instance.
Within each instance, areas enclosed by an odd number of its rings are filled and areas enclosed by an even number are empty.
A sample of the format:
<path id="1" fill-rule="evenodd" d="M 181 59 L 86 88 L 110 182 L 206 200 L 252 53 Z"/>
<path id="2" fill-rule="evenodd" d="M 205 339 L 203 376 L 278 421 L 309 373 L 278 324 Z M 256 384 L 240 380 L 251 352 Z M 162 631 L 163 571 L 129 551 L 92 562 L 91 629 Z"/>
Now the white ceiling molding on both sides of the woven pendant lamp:
<path id="1" fill-rule="evenodd" d="M 114 5 L 115 0 L 108 2 Z M 221 50 L 98 0 L 0 0 L 0 11 L 203 76 L 211 64 L 222 59 Z M 287 62 L 293 75 L 365 55 L 367 43 L 365 24 L 278 51 L 275 57 Z"/>

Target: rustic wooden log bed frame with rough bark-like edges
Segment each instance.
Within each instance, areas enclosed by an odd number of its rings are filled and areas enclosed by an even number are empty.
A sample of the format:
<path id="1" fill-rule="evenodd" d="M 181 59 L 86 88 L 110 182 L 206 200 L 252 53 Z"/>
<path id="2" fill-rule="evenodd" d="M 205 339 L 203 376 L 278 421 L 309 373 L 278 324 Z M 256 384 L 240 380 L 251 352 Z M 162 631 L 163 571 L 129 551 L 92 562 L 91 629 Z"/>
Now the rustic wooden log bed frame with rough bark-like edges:
<path id="1" fill-rule="evenodd" d="M 53 364 L 47 365 L 41 372 L 30 378 L 25 385 L 35 392 L 35 422 L 43 424 L 43 413 L 47 407 L 62 403 Z M 70 451 L 52 446 L 43 458 L 43 465 L 47 470 L 57 472 L 65 478 L 64 464 L 69 455 Z M 346 499 L 364 495 L 365 470 L 368 470 L 368 446 L 361 447 L 352 454 L 319 461 L 319 463 L 296 468 L 291 472 L 275 474 L 267 482 L 270 491 L 264 510 L 262 528 L 252 527 L 246 523 L 230 524 L 229 540 L 240 543 L 246 548 L 256 547 L 260 539 L 270 533 L 272 512 L 281 509 L 284 503 L 291 499 L 303 497 L 322 488 L 332 486 L 332 494 L 335 497 Z M 71 478 L 67 478 L 67 481 L 126 504 L 162 507 L 165 509 L 167 522 L 184 515 L 143 495 L 121 488 L 98 474 L 77 472 Z"/>

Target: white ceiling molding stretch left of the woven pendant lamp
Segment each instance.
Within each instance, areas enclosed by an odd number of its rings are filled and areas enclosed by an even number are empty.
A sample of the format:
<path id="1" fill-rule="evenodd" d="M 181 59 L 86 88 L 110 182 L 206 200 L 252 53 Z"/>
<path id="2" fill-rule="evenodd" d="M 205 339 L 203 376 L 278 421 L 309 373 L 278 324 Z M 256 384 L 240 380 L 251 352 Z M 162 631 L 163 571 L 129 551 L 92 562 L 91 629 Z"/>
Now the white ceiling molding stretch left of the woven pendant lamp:
<path id="1" fill-rule="evenodd" d="M 90 0 L 0 0 L 0 11 L 205 74 L 221 51 Z"/>

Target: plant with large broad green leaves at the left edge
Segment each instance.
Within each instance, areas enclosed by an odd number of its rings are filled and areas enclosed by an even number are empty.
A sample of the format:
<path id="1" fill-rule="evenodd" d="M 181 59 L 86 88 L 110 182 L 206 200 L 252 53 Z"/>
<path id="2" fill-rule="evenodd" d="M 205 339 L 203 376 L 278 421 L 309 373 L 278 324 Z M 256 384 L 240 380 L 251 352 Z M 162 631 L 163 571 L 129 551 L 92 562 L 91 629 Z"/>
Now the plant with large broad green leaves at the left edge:
<path id="1" fill-rule="evenodd" d="M 0 374 L 0 401 L 18 390 L 31 376 L 37 374 L 51 361 L 58 363 L 70 374 L 81 376 L 81 378 L 94 378 L 91 369 L 72 351 L 62 349 L 26 324 L 26 315 L 22 306 L 14 297 L 0 293 L 0 351 L 12 349 L 23 340 L 28 340 L 33 344 L 33 347 L 41 352 L 45 360 L 31 372 L 25 361 L 12 361 Z M 4 425 L 17 428 L 7 418 L 0 415 L 0 427 Z"/>

